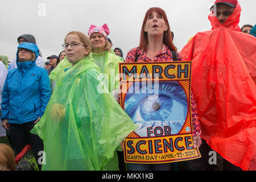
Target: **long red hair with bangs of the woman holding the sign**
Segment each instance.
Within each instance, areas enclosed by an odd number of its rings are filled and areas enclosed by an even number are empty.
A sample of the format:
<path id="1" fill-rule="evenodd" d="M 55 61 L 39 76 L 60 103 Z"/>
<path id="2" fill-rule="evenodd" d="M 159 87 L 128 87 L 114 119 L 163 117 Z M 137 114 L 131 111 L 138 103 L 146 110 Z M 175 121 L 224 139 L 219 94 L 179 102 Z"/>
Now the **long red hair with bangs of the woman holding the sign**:
<path id="1" fill-rule="evenodd" d="M 163 43 L 166 44 L 166 46 L 171 51 L 177 51 L 177 48 L 174 46 L 174 43 L 172 42 L 171 28 L 166 16 L 166 12 L 160 9 L 160 7 L 151 7 L 150 9 L 147 10 L 147 13 L 145 14 L 142 28 L 141 28 L 141 41 L 139 42 L 139 49 L 142 49 L 143 51 L 147 51 L 148 37 L 147 37 L 147 32 L 144 31 L 144 26 L 146 25 L 147 19 L 153 13 L 153 11 L 163 16 L 164 22 L 166 22 L 168 26 L 168 30 L 165 31 L 163 35 Z"/>

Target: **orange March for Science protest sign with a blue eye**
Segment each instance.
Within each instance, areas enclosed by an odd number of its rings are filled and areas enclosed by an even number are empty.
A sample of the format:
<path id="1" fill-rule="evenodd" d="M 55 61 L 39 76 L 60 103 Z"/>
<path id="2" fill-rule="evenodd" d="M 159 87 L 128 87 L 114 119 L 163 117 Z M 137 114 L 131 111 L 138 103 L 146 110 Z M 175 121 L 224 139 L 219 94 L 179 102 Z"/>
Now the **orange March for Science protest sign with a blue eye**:
<path id="1" fill-rule="evenodd" d="M 119 64 L 120 105 L 138 129 L 125 140 L 126 163 L 200 158 L 193 148 L 191 61 Z"/>

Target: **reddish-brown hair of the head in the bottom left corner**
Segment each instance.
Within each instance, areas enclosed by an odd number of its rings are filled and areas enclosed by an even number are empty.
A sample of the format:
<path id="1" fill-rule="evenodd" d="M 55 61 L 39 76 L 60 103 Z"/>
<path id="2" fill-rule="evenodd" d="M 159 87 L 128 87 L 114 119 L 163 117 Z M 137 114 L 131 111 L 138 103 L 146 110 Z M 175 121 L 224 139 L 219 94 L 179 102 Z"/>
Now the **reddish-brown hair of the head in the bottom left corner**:
<path id="1" fill-rule="evenodd" d="M 14 151 L 5 143 L 0 143 L 0 171 L 15 171 Z"/>

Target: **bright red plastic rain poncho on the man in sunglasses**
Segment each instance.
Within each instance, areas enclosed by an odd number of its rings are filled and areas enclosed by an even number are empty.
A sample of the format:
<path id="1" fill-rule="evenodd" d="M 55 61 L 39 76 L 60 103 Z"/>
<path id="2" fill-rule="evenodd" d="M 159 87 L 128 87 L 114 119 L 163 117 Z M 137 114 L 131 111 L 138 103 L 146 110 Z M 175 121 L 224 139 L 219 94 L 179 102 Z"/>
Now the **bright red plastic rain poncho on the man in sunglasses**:
<path id="1" fill-rule="evenodd" d="M 202 138 L 224 159 L 256 170 L 256 38 L 240 31 L 241 7 L 222 25 L 212 14 L 212 30 L 199 32 L 183 48 L 192 60 Z"/>

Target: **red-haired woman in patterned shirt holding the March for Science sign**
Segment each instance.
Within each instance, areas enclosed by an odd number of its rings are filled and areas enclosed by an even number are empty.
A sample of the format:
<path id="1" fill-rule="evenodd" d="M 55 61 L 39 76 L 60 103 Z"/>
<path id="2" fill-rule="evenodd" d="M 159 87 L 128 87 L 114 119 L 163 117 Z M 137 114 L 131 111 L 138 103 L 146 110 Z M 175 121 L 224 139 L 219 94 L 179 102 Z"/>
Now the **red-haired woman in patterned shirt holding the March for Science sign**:
<path id="1" fill-rule="evenodd" d="M 170 25 L 166 13 L 159 7 L 150 8 L 144 16 L 141 41 L 139 47 L 131 49 L 127 53 L 126 62 L 150 62 L 150 61 L 181 61 L 180 53 L 176 52 L 177 49 L 172 42 L 172 35 Z M 179 89 L 176 86 L 176 90 Z M 142 103 L 143 104 L 143 103 Z M 147 107 L 150 101 L 147 101 Z M 158 111 L 161 106 L 153 103 Z M 177 106 L 181 106 L 177 105 Z M 145 107 L 147 110 L 148 108 Z M 169 106 L 170 107 L 170 106 Z M 196 103 L 191 95 L 191 108 L 192 108 L 192 124 L 193 124 L 193 147 L 200 147 L 201 145 L 201 129 L 199 120 L 197 118 Z M 142 108 L 143 110 L 143 108 Z M 168 110 L 168 109 L 167 109 Z M 131 116 L 130 116 L 131 117 Z M 157 116 L 156 116 L 157 117 Z M 159 117 L 156 120 L 160 120 Z M 148 127 L 147 127 L 148 129 Z M 163 164 L 135 164 L 127 163 L 128 170 L 170 170 L 170 163 Z"/>

